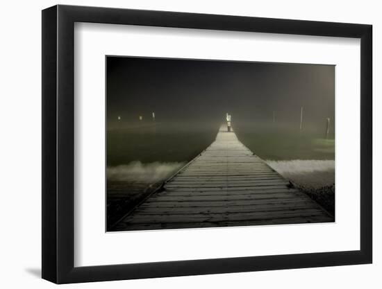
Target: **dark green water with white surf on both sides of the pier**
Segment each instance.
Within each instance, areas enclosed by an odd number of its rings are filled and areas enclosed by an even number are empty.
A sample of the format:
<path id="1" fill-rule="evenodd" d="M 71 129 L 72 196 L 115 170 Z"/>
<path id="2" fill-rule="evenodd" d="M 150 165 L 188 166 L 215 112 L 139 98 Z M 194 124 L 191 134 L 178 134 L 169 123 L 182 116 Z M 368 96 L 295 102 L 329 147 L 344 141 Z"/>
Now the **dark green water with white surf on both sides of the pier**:
<path id="1" fill-rule="evenodd" d="M 107 134 L 108 225 L 199 155 L 221 123 L 135 123 Z M 238 139 L 286 179 L 304 188 L 334 184 L 334 135 L 314 128 L 235 124 Z"/>

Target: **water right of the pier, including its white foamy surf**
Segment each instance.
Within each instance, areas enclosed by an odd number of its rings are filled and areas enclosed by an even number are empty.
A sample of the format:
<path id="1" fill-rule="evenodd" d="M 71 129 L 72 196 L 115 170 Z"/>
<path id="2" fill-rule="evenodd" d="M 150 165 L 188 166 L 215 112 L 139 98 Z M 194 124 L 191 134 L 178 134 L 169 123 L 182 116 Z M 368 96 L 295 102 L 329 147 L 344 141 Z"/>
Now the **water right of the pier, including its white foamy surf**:
<path id="1" fill-rule="evenodd" d="M 238 125 L 235 132 L 247 148 L 294 184 L 317 189 L 335 183 L 333 133 L 325 139 L 324 130 L 314 126 L 300 131 L 297 125 L 248 123 Z"/>

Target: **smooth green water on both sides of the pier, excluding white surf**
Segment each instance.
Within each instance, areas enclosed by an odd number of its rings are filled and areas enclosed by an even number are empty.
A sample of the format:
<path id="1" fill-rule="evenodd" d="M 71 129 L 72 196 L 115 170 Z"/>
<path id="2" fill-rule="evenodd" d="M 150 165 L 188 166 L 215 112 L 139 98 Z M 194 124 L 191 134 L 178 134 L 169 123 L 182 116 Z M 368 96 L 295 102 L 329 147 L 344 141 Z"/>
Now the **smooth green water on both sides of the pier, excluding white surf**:
<path id="1" fill-rule="evenodd" d="M 215 140 L 219 124 L 148 123 L 108 130 L 107 164 L 131 161 L 190 161 Z M 235 125 L 235 133 L 247 148 L 263 159 L 334 159 L 335 141 L 322 132 L 292 128 Z"/>

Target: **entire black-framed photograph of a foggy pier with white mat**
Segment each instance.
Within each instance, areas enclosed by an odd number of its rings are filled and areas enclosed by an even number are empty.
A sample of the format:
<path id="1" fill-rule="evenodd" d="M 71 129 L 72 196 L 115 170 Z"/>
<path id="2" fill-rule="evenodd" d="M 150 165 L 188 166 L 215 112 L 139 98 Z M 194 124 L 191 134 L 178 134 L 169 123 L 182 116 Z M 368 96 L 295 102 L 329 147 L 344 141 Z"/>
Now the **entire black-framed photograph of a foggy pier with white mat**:
<path id="1" fill-rule="evenodd" d="M 42 278 L 372 263 L 372 26 L 42 11 Z"/>

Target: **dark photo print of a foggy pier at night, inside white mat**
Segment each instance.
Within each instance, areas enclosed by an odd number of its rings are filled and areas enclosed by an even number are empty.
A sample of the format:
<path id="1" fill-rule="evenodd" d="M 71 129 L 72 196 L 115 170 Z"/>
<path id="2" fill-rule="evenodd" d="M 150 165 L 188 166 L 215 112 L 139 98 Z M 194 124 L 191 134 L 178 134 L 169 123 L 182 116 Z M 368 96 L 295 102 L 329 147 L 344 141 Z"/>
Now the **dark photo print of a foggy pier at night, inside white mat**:
<path id="1" fill-rule="evenodd" d="M 106 56 L 106 231 L 335 221 L 335 66 Z"/>

